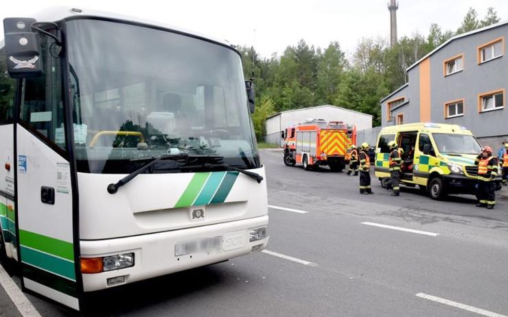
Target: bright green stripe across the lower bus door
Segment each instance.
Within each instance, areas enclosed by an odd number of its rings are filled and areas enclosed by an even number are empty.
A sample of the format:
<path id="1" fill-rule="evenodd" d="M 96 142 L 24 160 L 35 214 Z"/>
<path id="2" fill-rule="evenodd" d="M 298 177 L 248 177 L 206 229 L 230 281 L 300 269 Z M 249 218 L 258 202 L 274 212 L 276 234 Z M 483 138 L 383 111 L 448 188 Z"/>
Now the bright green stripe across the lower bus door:
<path id="1" fill-rule="evenodd" d="M 74 246 L 70 242 L 19 229 L 19 243 L 32 249 L 74 261 Z"/>

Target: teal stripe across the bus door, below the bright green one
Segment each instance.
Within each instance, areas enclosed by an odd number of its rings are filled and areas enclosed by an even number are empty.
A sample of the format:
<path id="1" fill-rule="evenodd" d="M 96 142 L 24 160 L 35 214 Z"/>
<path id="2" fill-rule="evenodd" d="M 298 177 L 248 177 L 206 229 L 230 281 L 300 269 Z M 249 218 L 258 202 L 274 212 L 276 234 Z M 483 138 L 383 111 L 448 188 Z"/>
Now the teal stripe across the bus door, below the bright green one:
<path id="1" fill-rule="evenodd" d="M 74 263 L 21 245 L 21 262 L 76 281 Z"/>

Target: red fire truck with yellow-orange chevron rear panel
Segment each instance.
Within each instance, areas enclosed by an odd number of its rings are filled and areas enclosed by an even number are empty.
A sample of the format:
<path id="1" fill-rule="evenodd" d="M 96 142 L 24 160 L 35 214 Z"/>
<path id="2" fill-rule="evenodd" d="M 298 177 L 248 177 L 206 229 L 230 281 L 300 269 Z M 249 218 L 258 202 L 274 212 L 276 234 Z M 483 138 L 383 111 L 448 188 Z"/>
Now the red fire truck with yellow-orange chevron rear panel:
<path id="1" fill-rule="evenodd" d="M 356 127 L 342 121 L 326 122 L 312 119 L 290 126 L 282 132 L 284 164 L 303 164 L 305 170 L 327 165 L 334 172 L 345 166 L 345 156 L 351 144 L 356 143 Z"/>

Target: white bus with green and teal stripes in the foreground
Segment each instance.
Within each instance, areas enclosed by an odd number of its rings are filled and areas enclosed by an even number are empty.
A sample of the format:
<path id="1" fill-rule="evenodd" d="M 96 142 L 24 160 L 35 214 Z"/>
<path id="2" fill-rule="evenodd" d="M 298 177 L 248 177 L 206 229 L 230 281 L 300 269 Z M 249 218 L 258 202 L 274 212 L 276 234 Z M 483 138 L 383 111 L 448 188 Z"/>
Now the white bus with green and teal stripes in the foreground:
<path id="1" fill-rule="evenodd" d="M 84 294 L 266 248 L 253 85 L 222 40 L 104 12 L 6 18 L 3 262 Z"/>

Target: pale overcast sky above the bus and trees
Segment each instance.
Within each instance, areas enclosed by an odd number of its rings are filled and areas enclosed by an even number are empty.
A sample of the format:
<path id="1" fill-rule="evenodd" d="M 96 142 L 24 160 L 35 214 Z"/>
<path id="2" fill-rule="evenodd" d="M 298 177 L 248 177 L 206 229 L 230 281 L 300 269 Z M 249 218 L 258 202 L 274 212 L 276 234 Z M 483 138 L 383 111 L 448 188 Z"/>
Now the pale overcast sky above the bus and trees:
<path id="1" fill-rule="evenodd" d="M 350 55 L 364 37 L 389 38 L 388 0 L 3 0 L 0 18 L 30 16 L 51 5 L 90 8 L 177 25 L 236 45 L 254 45 L 263 56 L 282 53 L 301 38 L 315 47 L 336 40 Z M 400 0 L 398 34 L 427 34 L 431 23 L 456 30 L 468 8 L 483 18 L 494 7 L 508 19 L 507 0 Z M 255 31 L 254 31 L 255 30 Z M 0 25 L 3 34 L 3 25 Z M 3 37 L 3 36 L 1 36 Z"/>

